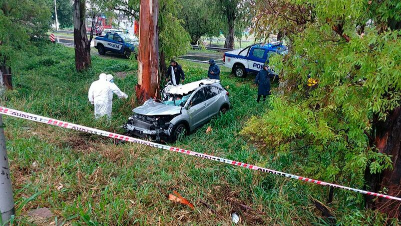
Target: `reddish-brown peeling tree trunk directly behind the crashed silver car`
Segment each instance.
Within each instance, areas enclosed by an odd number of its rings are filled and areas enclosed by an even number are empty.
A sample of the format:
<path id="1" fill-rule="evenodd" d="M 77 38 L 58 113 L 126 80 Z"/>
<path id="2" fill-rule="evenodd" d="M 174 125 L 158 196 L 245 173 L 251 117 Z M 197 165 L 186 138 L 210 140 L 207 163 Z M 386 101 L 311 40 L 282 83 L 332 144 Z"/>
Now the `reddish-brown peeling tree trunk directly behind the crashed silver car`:
<path id="1" fill-rule="evenodd" d="M 158 0 L 141 0 L 139 11 L 138 84 L 135 87 L 139 103 L 157 97 L 159 79 Z"/>

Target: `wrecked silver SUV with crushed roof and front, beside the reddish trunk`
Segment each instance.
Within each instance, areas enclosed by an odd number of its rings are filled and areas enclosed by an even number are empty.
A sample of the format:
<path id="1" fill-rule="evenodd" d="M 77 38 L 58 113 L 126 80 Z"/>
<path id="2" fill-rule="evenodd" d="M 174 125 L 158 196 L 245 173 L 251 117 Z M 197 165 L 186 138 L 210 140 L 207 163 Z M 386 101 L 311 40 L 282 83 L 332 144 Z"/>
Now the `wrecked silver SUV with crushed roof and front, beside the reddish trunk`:
<path id="1" fill-rule="evenodd" d="M 228 92 L 219 80 L 203 79 L 177 86 L 167 85 L 161 100 L 147 100 L 134 108 L 123 126 L 130 135 L 174 142 L 230 109 Z"/>

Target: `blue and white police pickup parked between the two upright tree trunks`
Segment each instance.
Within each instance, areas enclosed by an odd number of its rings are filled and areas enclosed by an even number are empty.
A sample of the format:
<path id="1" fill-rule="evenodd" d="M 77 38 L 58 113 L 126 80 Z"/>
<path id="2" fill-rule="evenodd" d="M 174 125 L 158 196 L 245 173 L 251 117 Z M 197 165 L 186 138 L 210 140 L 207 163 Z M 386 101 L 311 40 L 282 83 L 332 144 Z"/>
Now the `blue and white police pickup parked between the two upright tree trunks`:
<path id="1" fill-rule="evenodd" d="M 107 32 L 105 35 L 96 36 L 94 45 L 100 55 L 104 55 L 106 51 L 110 51 L 129 57 L 132 52 L 135 54 L 135 47 L 138 46 L 138 38 L 132 33 Z"/>

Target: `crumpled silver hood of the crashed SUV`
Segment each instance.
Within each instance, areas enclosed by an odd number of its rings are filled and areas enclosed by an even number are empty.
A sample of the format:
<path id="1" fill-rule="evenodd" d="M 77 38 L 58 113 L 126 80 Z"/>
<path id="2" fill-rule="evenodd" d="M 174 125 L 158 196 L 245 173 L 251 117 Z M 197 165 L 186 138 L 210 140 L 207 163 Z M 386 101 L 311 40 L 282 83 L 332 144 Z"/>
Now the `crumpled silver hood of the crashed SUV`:
<path id="1" fill-rule="evenodd" d="M 166 105 L 154 101 L 153 99 L 146 100 L 142 106 L 135 107 L 133 112 L 147 116 L 151 115 L 173 115 L 181 113 L 180 106 Z"/>

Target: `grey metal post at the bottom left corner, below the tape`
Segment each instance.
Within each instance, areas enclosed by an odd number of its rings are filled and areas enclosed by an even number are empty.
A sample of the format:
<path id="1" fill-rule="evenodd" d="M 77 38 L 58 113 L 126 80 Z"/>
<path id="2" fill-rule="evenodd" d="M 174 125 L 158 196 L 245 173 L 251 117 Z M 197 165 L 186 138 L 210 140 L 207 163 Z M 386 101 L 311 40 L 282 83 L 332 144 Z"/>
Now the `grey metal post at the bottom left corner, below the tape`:
<path id="1" fill-rule="evenodd" d="M 5 148 L 4 124 L 0 114 L 0 212 L 1 224 L 8 221 L 14 214 L 14 199 L 12 197 L 11 176 Z"/>

